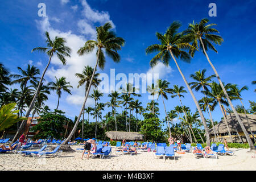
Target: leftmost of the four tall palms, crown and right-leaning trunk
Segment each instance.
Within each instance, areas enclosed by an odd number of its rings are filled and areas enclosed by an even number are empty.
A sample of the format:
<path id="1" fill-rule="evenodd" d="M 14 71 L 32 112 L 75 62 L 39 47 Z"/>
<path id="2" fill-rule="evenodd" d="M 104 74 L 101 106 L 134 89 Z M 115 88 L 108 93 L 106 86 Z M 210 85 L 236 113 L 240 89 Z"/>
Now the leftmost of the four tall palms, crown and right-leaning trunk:
<path id="1" fill-rule="evenodd" d="M 65 46 L 66 41 L 64 38 L 59 38 L 56 36 L 54 40 L 51 40 L 51 38 L 49 37 L 49 33 L 46 32 L 46 39 L 47 39 L 46 40 L 47 47 L 37 47 L 37 48 L 32 49 L 32 52 L 34 52 L 34 51 L 46 52 L 47 55 L 49 56 L 48 64 L 46 66 L 46 69 L 44 69 L 43 75 L 41 76 L 40 82 L 38 84 L 39 87 L 42 85 L 44 75 L 46 74 L 49 64 L 51 63 L 52 56 L 56 54 L 57 57 L 59 58 L 59 60 L 61 61 L 61 63 L 63 63 L 63 65 L 65 65 L 67 63 L 67 60 L 65 59 L 65 57 L 70 57 L 69 53 L 71 53 L 71 48 Z M 28 107 L 28 110 L 27 110 L 27 113 L 25 116 L 26 118 L 28 118 L 28 116 L 30 115 L 30 111 L 34 107 L 36 98 L 38 97 L 38 93 L 40 91 L 39 87 L 36 89 L 36 94 L 33 97 L 30 106 Z M 24 126 L 26 126 L 26 123 L 27 123 L 26 120 L 22 121 L 22 124 L 20 125 L 19 130 L 16 132 L 11 143 L 16 141 L 16 139 L 18 138 L 20 133 L 22 133 L 24 131 Z"/>

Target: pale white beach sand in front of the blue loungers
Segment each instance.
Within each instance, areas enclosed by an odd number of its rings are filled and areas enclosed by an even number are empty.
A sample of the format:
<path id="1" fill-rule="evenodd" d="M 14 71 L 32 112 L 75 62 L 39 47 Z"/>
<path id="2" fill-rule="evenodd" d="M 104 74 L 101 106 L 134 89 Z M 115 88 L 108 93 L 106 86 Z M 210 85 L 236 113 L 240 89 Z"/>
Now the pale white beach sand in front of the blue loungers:
<path id="1" fill-rule="evenodd" d="M 73 149 L 82 146 L 72 146 Z M 112 148 L 112 158 L 110 159 L 83 159 L 81 152 L 62 153 L 59 158 L 47 156 L 47 158 L 33 158 L 30 156 L 20 156 L 18 154 L 0 154 L 0 170 L 43 170 L 43 171 L 166 171 L 166 170 L 256 170 L 255 152 L 247 152 L 249 149 L 230 148 L 234 151 L 234 156 L 218 155 L 218 159 L 197 159 L 191 153 L 176 154 L 174 158 L 154 159 L 154 152 L 139 151 L 137 155 L 117 155 L 114 147 Z"/>

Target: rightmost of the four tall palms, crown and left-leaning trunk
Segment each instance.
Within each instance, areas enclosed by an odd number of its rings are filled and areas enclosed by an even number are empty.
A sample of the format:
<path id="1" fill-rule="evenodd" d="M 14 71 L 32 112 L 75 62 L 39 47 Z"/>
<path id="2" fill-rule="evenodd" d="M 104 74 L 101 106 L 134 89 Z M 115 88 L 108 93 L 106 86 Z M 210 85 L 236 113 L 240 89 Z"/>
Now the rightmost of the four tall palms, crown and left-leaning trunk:
<path id="1" fill-rule="evenodd" d="M 214 34 L 214 33 L 219 33 L 215 28 L 212 28 L 212 26 L 215 26 L 216 24 L 214 24 L 214 23 L 207 24 L 208 22 L 209 22 L 208 19 L 202 19 L 200 23 L 195 23 L 195 22 L 193 22 L 193 24 L 190 23 L 188 30 L 185 32 L 188 34 L 188 36 L 190 36 L 191 41 L 192 41 L 192 46 L 196 47 L 196 48 L 200 47 L 200 49 L 203 50 L 204 55 L 207 57 L 207 60 L 210 64 L 210 66 L 212 67 L 212 69 L 218 79 L 218 82 L 220 83 L 220 86 L 224 92 L 226 100 L 228 100 L 228 103 L 229 103 L 230 107 L 232 108 L 234 114 L 236 115 L 237 121 L 238 121 L 239 125 L 241 126 L 243 133 L 245 134 L 246 140 L 250 146 L 250 150 L 255 150 L 253 142 L 251 141 L 250 136 L 249 136 L 245 126 L 243 125 L 241 118 L 239 117 L 236 109 L 234 108 L 234 106 L 228 96 L 228 93 L 226 92 L 225 86 L 222 84 L 221 78 L 218 75 L 216 68 L 213 66 L 213 64 L 210 61 L 209 56 L 207 54 L 208 48 L 212 49 L 214 52 L 217 52 L 216 48 L 214 48 L 212 43 L 220 45 L 224 41 L 221 38 L 221 36 Z M 191 53 L 191 55 L 193 57 L 195 55 L 195 49 L 194 48 L 190 49 L 189 53 Z"/>

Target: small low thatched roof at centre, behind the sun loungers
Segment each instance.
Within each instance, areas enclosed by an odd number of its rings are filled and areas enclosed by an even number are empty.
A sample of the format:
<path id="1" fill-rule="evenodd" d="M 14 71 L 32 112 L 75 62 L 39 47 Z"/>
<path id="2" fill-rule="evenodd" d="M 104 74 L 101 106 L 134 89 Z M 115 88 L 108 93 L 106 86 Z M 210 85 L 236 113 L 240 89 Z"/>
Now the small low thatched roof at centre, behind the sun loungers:
<path id="1" fill-rule="evenodd" d="M 106 137 L 113 140 L 143 140 L 144 135 L 136 132 L 125 132 L 125 131 L 108 131 L 105 133 Z"/>

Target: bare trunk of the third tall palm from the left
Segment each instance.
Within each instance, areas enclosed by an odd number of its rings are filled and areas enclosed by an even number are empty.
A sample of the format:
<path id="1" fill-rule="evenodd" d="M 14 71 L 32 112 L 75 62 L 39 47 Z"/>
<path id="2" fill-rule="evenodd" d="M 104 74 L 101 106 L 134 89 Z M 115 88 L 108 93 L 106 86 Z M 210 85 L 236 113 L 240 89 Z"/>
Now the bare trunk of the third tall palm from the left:
<path id="1" fill-rule="evenodd" d="M 193 101 L 194 101 L 195 104 L 196 104 L 196 108 L 197 108 L 197 110 L 199 111 L 200 117 L 201 117 L 202 122 L 203 122 L 203 125 L 204 125 L 205 135 L 206 135 L 206 137 L 207 137 L 207 146 L 210 146 L 209 130 L 208 130 L 207 122 L 205 121 L 203 112 L 202 112 L 202 110 L 201 110 L 201 108 L 200 108 L 200 106 L 199 106 L 199 104 L 198 104 L 198 102 L 197 102 L 197 100 L 196 100 L 196 97 L 194 96 L 194 94 L 193 94 L 193 92 L 192 92 L 190 86 L 188 85 L 187 80 L 185 79 L 183 73 L 181 72 L 181 69 L 180 69 L 179 65 L 177 64 L 177 61 L 176 61 L 176 59 L 175 59 L 175 57 L 174 57 L 174 55 L 173 55 L 173 53 L 172 53 L 171 50 L 170 50 L 170 53 L 171 53 L 172 59 L 174 59 L 174 61 L 175 61 L 175 64 L 176 64 L 177 68 L 179 69 L 180 75 L 182 76 L 182 78 L 183 78 L 185 84 L 187 85 L 187 88 L 188 88 L 189 93 L 191 94 L 191 96 L 192 96 L 192 98 L 193 98 Z"/>

